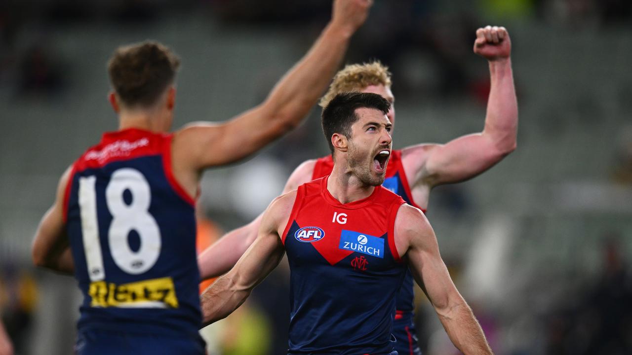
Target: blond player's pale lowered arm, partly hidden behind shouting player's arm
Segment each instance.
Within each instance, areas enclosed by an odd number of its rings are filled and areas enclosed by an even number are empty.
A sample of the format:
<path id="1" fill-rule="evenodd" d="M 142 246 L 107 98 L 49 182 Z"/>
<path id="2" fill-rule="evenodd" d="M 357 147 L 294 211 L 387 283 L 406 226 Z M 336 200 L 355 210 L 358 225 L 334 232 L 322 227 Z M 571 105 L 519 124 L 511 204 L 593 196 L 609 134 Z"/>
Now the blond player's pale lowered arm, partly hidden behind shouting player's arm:
<path id="1" fill-rule="evenodd" d="M 316 160 L 307 160 L 298 165 L 289 176 L 283 194 L 296 190 L 299 185 L 312 180 L 315 162 Z M 263 214 L 260 214 L 246 226 L 233 229 L 198 255 L 198 267 L 202 280 L 222 275 L 234 267 L 237 260 L 257 238 L 262 218 Z"/>

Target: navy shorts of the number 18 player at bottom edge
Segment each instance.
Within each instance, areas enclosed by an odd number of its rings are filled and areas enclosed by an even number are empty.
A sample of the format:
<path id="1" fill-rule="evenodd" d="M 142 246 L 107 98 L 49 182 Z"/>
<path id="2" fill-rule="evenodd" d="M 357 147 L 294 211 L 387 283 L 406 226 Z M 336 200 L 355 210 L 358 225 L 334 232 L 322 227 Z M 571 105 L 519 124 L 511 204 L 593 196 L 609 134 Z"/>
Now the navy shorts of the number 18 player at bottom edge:
<path id="1" fill-rule="evenodd" d="M 75 344 L 76 355 L 204 355 L 205 343 L 195 334 L 189 337 L 162 334 L 129 334 L 107 330 L 81 330 Z"/>

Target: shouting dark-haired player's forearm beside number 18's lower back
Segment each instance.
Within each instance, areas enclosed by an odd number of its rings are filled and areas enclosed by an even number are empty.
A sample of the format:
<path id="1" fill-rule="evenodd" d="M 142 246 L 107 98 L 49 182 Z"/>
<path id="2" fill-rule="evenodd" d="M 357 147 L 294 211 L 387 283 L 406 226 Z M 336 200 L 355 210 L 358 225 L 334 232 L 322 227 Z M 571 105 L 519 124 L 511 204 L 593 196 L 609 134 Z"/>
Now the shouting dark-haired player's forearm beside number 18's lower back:
<path id="1" fill-rule="evenodd" d="M 250 295 L 252 289 L 236 289 L 231 275 L 227 274 L 205 289 L 200 296 L 202 326 L 226 318 Z"/>

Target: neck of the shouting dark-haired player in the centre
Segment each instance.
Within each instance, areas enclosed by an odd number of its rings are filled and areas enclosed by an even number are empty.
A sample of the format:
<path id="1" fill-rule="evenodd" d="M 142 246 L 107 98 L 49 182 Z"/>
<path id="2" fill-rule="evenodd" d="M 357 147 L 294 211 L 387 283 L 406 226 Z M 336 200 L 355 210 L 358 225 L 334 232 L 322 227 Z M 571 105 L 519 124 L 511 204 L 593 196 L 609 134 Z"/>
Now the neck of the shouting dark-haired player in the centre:
<path id="1" fill-rule="evenodd" d="M 362 183 L 348 167 L 334 164 L 327 179 L 327 191 L 340 203 L 349 203 L 370 196 L 375 186 Z"/>

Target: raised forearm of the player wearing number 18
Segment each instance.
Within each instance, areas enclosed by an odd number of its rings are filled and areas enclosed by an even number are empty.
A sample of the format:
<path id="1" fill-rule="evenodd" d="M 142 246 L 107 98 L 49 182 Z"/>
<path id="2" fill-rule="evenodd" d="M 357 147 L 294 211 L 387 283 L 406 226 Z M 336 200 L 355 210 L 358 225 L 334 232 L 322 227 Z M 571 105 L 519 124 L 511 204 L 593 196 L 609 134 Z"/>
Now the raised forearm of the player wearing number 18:
<path id="1" fill-rule="evenodd" d="M 329 85 L 353 32 L 330 22 L 305 57 L 277 83 L 265 107 L 288 124 L 300 123 Z"/>

